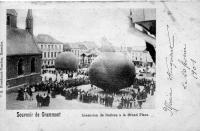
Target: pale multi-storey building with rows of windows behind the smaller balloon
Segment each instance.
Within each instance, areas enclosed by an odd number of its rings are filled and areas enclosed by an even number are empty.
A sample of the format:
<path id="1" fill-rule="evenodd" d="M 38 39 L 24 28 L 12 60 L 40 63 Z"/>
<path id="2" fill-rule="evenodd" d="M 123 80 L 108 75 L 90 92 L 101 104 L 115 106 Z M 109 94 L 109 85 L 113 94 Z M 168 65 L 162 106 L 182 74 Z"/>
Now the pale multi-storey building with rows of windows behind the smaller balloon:
<path id="1" fill-rule="evenodd" d="M 63 52 L 63 43 L 46 34 L 39 34 L 35 41 L 42 51 L 42 69 L 54 68 L 56 57 Z"/>

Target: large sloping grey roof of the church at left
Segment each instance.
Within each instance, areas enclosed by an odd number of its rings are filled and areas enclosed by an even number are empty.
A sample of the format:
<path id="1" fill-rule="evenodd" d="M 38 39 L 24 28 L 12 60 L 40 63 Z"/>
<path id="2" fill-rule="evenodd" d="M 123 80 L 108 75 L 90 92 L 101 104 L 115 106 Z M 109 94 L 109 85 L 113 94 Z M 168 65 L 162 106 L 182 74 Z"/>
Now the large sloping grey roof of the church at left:
<path id="1" fill-rule="evenodd" d="M 41 54 L 33 36 L 26 30 L 7 27 L 7 56 Z"/>

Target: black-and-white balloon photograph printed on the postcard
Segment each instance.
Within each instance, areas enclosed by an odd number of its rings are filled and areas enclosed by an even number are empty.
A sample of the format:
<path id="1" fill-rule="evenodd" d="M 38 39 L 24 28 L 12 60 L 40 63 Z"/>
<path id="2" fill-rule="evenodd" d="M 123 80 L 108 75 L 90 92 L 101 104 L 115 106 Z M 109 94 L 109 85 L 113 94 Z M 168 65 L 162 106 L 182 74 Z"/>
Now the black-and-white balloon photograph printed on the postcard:
<path id="1" fill-rule="evenodd" d="M 7 9 L 6 30 L 8 110 L 155 109 L 155 8 Z"/>

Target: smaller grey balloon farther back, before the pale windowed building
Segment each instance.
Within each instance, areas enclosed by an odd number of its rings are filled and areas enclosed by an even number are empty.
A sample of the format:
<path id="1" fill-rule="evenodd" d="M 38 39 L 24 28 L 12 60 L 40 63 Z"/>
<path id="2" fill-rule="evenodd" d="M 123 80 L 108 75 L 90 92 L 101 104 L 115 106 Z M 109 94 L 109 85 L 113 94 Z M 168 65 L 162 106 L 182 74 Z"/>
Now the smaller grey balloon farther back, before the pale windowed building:
<path id="1" fill-rule="evenodd" d="M 76 71 L 78 68 L 78 58 L 72 52 L 62 52 L 56 57 L 55 68 Z"/>

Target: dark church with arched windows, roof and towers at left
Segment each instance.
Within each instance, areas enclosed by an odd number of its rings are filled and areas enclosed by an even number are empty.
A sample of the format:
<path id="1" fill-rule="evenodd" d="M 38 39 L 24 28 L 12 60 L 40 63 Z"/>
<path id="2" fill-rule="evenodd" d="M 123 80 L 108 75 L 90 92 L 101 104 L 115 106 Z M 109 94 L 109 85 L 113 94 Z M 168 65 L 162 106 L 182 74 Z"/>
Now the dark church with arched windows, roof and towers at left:
<path id="1" fill-rule="evenodd" d="M 33 38 L 33 16 L 28 10 L 26 29 L 17 28 L 17 12 L 7 10 L 7 90 L 41 81 L 42 53 Z"/>

